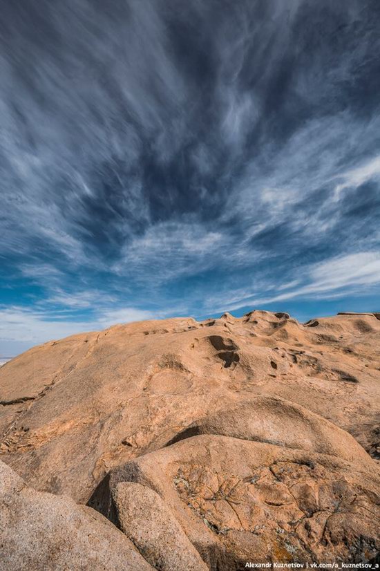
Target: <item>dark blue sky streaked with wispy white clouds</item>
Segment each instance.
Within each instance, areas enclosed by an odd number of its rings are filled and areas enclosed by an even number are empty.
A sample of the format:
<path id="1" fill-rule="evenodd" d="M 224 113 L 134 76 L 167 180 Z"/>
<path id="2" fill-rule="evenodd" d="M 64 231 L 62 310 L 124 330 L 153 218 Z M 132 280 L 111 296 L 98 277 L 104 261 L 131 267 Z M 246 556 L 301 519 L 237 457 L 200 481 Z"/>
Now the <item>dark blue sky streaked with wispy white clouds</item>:
<path id="1" fill-rule="evenodd" d="M 0 356 L 380 310 L 379 0 L 3 0 Z"/>

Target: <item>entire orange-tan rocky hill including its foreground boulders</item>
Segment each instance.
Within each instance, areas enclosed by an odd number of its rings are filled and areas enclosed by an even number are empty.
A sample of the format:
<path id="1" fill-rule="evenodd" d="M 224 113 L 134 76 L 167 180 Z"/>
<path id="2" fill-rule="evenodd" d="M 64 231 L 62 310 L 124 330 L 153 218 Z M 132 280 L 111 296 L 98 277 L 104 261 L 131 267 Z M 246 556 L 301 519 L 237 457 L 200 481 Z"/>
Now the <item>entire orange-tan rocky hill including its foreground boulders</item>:
<path id="1" fill-rule="evenodd" d="M 0 569 L 374 561 L 377 317 L 144 321 L 6 363 Z"/>

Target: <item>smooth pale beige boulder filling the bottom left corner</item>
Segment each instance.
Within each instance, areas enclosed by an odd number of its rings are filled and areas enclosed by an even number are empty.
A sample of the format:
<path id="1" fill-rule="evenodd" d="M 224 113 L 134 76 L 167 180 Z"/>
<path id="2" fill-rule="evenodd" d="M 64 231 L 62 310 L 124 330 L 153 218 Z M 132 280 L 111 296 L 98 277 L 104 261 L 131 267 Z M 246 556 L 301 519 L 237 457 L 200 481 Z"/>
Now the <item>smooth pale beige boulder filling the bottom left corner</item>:
<path id="1" fill-rule="evenodd" d="M 1 571 L 149 571 L 133 543 L 90 507 L 36 492 L 0 462 Z"/>

